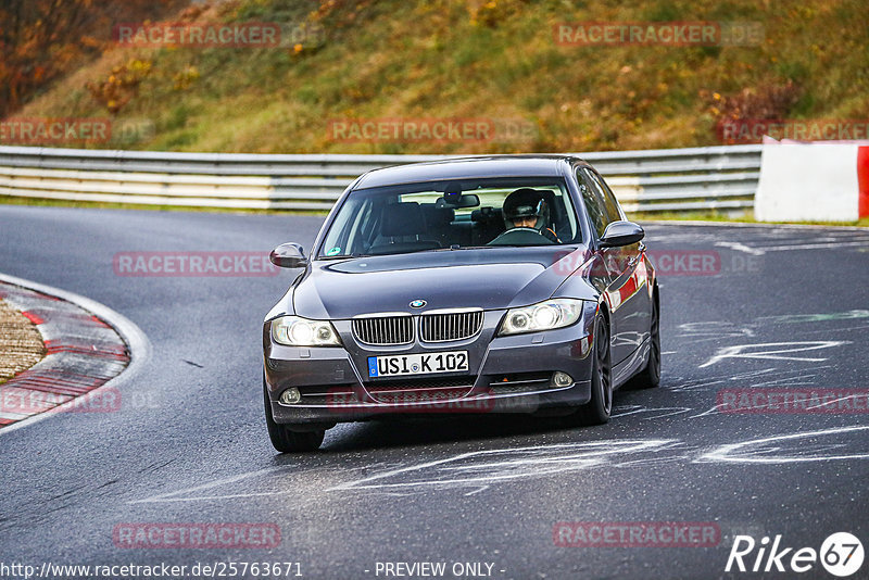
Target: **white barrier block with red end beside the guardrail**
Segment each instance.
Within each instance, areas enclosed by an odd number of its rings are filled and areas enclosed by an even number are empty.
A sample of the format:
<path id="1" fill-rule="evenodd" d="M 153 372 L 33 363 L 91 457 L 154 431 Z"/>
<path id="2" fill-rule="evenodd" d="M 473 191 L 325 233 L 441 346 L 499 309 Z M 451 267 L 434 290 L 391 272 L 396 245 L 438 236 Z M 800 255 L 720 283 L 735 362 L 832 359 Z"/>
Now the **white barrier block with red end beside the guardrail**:
<path id="1" fill-rule="evenodd" d="M 754 212 L 763 222 L 868 217 L 869 141 L 765 144 Z"/>

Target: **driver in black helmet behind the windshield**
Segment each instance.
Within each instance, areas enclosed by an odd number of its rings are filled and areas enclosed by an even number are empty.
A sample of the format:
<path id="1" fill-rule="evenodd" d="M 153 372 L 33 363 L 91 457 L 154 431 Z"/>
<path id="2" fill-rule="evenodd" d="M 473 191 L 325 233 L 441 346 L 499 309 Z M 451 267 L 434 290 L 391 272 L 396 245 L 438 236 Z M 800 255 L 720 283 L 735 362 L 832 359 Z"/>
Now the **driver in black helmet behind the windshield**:
<path id="1" fill-rule="evenodd" d="M 493 245 L 539 245 L 561 243 L 549 227 L 550 209 L 543 196 L 533 189 L 517 189 L 504 200 L 502 209 L 507 230 L 489 242 Z"/>

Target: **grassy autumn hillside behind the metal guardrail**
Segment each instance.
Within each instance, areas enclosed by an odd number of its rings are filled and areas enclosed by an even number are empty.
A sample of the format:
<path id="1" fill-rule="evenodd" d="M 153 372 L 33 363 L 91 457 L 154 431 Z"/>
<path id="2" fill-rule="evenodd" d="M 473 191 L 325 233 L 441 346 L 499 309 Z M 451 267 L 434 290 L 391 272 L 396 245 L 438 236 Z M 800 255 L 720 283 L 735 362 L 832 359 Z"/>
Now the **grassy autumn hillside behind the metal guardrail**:
<path id="1" fill-rule="evenodd" d="M 711 146 L 733 116 L 869 118 L 866 0 L 235 0 L 184 17 L 277 22 L 307 36 L 279 48 L 113 48 L 12 116 L 114 117 L 143 128 L 131 149 L 300 153 Z M 592 21 L 754 22 L 764 37 L 555 41 L 557 24 Z M 348 119 L 482 119 L 495 133 L 341 139 L 335 122 Z"/>

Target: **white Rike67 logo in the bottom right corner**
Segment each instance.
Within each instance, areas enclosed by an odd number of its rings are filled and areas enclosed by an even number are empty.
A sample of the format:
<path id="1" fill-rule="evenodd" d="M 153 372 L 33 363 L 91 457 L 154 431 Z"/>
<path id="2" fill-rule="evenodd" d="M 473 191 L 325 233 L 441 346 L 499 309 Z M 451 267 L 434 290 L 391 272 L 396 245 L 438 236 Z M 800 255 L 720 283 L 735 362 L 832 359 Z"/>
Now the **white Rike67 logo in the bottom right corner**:
<path id="1" fill-rule="evenodd" d="M 756 549 L 756 550 L 755 550 Z M 751 535 L 736 535 L 725 571 L 751 572 L 807 572 L 816 569 L 818 562 L 833 576 L 852 576 L 862 566 L 862 543 L 848 532 L 830 534 L 820 551 L 814 547 L 788 547 L 781 534 L 770 545 L 768 537 L 755 542 Z"/>

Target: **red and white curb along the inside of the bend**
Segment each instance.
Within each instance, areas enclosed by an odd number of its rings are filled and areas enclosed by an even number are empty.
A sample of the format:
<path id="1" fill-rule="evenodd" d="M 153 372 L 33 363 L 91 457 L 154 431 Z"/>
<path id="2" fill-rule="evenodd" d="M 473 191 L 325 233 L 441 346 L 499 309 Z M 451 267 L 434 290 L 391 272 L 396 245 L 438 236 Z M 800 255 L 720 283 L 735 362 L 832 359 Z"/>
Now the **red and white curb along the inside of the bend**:
<path id="1" fill-rule="evenodd" d="M 3 274 L 0 299 L 37 326 L 47 350 L 0 384 L 0 434 L 54 413 L 119 409 L 117 387 L 151 351 L 135 324 L 88 298 Z"/>

